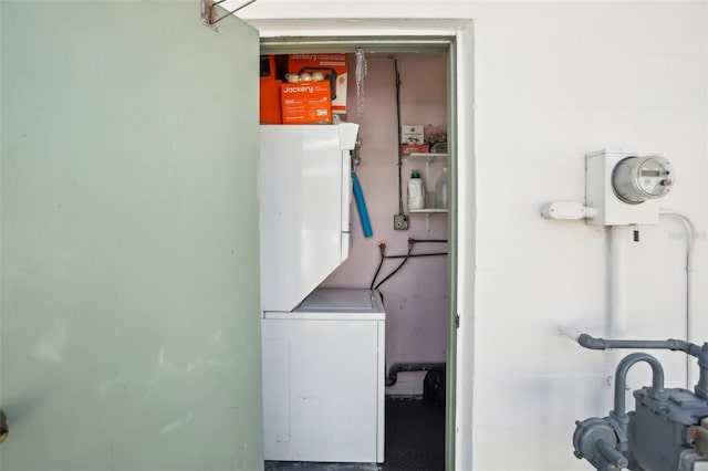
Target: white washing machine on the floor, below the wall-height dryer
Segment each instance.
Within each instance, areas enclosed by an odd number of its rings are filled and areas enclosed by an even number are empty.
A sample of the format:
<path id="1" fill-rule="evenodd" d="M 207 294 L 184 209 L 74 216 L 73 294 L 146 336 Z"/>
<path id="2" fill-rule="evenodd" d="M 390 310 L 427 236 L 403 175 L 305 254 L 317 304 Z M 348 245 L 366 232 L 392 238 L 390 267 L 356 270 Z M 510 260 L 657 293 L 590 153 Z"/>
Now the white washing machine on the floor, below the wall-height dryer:
<path id="1" fill-rule="evenodd" d="M 264 454 L 383 462 L 386 313 L 378 292 L 319 289 L 262 325 Z"/>

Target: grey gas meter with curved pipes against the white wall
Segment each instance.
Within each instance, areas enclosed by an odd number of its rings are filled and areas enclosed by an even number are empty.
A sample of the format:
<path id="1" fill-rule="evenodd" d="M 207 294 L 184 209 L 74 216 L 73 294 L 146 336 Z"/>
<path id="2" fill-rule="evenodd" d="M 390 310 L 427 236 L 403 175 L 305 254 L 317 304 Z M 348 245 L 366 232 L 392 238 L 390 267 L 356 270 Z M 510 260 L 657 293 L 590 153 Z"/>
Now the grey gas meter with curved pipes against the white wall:
<path id="1" fill-rule="evenodd" d="M 614 407 L 607 417 L 575 422 L 575 457 L 596 470 L 707 471 L 708 470 L 708 343 L 679 339 L 605 339 L 581 334 L 577 343 L 591 349 L 633 348 L 684 352 L 698 359 L 694 390 L 664 386 L 664 368 L 652 355 L 633 353 L 617 365 Z M 633 393 L 634 410 L 627 411 L 625 394 L 629 368 L 641 362 L 652 367 L 652 386 Z"/>

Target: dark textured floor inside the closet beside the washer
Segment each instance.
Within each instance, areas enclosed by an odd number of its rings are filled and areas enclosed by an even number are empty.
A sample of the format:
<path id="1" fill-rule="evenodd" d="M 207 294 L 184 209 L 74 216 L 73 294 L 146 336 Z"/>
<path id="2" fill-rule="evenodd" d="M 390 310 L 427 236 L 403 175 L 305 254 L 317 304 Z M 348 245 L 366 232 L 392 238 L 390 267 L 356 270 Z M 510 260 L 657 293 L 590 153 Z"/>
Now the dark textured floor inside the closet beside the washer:
<path id="1" fill-rule="evenodd" d="M 386 397 L 383 464 L 266 462 L 266 471 L 442 471 L 445 412 L 423 399 Z"/>

